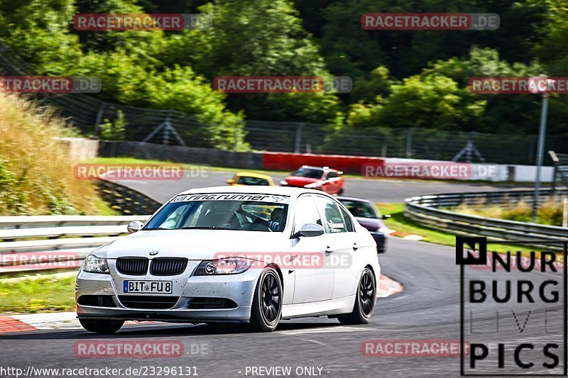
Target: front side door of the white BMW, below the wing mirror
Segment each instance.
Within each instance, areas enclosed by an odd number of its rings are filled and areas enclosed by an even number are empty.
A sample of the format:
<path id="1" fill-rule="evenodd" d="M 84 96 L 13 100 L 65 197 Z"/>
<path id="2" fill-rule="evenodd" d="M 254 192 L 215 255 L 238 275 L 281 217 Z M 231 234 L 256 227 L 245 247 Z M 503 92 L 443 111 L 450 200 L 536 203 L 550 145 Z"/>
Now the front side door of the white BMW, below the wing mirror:
<path id="1" fill-rule="evenodd" d="M 312 194 L 303 194 L 298 197 L 295 206 L 294 230 L 297 233 L 307 223 L 324 223 L 317 211 Z M 294 260 L 295 289 L 293 304 L 332 299 L 334 287 L 333 269 L 325 269 L 331 257 L 325 252 L 327 248 L 327 234 L 307 238 L 302 236 L 292 240 L 292 255 L 298 256 Z M 312 260 L 321 259 L 320 262 L 310 264 Z M 290 274 L 288 270 L 288 274 Z"/>

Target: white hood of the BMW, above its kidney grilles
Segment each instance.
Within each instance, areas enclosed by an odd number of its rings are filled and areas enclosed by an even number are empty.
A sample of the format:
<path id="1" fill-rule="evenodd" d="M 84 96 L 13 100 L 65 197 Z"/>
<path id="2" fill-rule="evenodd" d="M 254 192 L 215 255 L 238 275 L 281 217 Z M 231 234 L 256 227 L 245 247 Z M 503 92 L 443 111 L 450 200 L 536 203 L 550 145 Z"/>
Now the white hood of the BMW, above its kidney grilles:
<path id="1" fill-rule="evenodd" d="M 233 230 L 150 230 L 138 231 L 104 245 L 98 257 L 187 257 L 208 260 L 217 253 L 273 252 L 290 245 L 284 233 Z M 154 256 L 150 252 L 158 251 Z"/>

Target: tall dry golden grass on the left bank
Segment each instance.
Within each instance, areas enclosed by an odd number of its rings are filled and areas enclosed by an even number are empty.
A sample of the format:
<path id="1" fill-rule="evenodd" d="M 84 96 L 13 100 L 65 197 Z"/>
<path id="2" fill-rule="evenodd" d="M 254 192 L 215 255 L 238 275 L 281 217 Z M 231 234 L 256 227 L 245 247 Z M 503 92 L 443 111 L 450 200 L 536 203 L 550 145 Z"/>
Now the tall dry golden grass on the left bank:
<path id="1" fill-rule="evenodd" d="M 71 155 L 56 137 L 75 135 L 53 110 L 0 93 L 0 215 L 94 213 L 92 182 L 73 177 Z"/>

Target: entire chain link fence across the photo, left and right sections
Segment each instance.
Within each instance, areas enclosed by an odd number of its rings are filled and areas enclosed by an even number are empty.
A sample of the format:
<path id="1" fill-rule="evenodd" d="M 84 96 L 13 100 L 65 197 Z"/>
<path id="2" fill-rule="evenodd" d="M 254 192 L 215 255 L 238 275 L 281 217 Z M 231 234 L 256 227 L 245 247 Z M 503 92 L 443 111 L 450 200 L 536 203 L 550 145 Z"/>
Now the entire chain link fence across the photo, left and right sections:
<path id="1" fill-rule="evenodd" d="M 0 70 L 25 75 L 33 71 L 0 41 Z M 60 109 L 85 135 L 124 116 L 124 140 L 207 147 L 207 125 L 194 114 L 111 104 L 87 94 L 45 94 L 41 101 Z M 536 126 L 535 126 L 536 128 Z M 253 150 L 371 155 L 432 160 L 535 163 L 537 135 L 496 135 L 422 128 L 348 128 L 316 123 L 246 121 L 246 142 Z M 568 135 L 549 136 L 546 149 L 568 153 Z M 550 162 L 546 162 L 547 164 Z"/>

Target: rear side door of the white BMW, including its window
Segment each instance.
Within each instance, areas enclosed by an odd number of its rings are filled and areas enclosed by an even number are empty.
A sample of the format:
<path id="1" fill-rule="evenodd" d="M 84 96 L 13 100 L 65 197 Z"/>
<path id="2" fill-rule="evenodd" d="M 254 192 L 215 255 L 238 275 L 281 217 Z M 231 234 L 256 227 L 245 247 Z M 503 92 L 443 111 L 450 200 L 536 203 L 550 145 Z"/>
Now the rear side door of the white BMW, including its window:
<path id="1" fill-rule="evenodd" d="M 353 218 L 334 199 L 317 195 L 316 204 L 327 226 L 327 250 L 334 271 L 332 299 L 353 295 L 358 274 L 354 267 L 354 252 L 358 246 Z"/>

